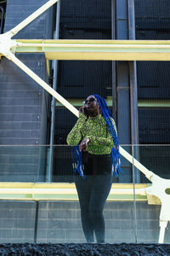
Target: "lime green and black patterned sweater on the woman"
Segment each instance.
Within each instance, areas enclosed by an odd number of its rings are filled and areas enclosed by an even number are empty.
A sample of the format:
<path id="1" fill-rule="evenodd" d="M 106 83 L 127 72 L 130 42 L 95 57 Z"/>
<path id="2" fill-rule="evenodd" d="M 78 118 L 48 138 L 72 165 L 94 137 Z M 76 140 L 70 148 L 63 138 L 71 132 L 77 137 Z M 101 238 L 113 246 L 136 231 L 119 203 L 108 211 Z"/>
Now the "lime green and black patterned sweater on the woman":
<path id="1" fill-rule="evenodd" d="M 111 119 L 116 128 L 114 119 Z M 114 142 L 108 131 L 104 117 L 99 114 L 96 117 L 87 117 L 80 113 L 76 125 L 67 136 L 66 142 L 70 146 L 80 143 L 85 137 L 89 138 L 88 153 L 110 154 Z"/>

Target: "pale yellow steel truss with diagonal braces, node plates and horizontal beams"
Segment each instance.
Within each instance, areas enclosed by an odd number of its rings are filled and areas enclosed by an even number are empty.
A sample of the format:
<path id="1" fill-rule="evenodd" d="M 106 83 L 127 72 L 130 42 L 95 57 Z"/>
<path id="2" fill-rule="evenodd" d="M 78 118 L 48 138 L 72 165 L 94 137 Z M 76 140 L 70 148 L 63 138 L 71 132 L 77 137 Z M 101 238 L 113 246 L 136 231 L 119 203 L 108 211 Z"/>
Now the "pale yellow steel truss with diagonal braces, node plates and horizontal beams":
<path id="1" fill-rule="evenodd" d="M 57 91 L 51 88 L 47 83 L 40 79 L 36 73 L 21 62 L 15 53 L 44 53 L 47 60 L 91 60 L 91 61 L 170 61 L 170 41 L 141 41 L 141 40 L 27 40 L 12 39 L 14 35 L 20 32 L 32 20 L 35 20 L 45 10 L 51 7 L 58 0 L 50 0 L 41 8 L 37 9 L 26 20 L 23 20 L 18 26 L 10 31 L 0 35 L 0 57 L 6 57 L 13 61 L 20 69 L 27 73 L 37 84 L 47 90 L 56 98 L 65 108 L 68 108 L 78 117 L 78 110 L 71 103 L 67 102 L 64 97 L 60 96 Z M 143 185 L 138 187 L 135 185 L 135 194 L 141 195 L 140 199 L 156 196 L 158 202 L 161 201 L 160 213 L 160 236 L 159 242 L 164 241 L 164 233 L 167 222 L 170 221 L 170 180 L 157 176 L 154 172 L 150 172 L 147 168 L 135 160 L 131 154 L 120 147 L 120 153 L 140 172 L 143 172 L 152 183 L 150 187 Z M 69 187 L 59 187 L 53 183 L 50 184 L 33 184 L 33 183 L 0 183 L 0 199 L 59 199 L 59 195 L 72 193 L 76 196 L 74 185 Z M 67 190 L 70 189 L 70 190 Z M 117 192 L 118 191 L 118 192 Z M 133 195 L 133 188 L 119 184 L 119 188 L 111 189 L 110 199 L 116 200 L 117 195 Z M 15 195 L 15 196 L 14 196 Z M 16 196 L 17 195 L 17 196 Z M 50 195 L 50 196 L 49 196 Z M 142 197 L 143 196 L 143 197 Z M 66 198 L 66 197 L 65 197 Z M 74 198 L 72 198 L 74 200 Z M 120 200 L 120 196 L 119 196 Z M 130 200 L 127 198 L 127 200 Z"/>

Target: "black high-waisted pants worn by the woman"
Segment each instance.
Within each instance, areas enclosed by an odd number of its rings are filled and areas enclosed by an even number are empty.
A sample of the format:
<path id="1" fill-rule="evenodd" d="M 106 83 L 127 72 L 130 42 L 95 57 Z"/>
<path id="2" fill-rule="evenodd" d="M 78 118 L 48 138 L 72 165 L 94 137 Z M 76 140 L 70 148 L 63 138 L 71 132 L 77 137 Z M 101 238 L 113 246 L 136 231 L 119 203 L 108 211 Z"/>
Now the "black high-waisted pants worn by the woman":
<path id="1" fill-rule="evenodd" d="M 82 230 L 88 242 L 105 242 L 103 209 L 111 190 L 111 155 L 88 154 L 82 158 L 85 179 L 75 176 L 81 207 Z"/>

